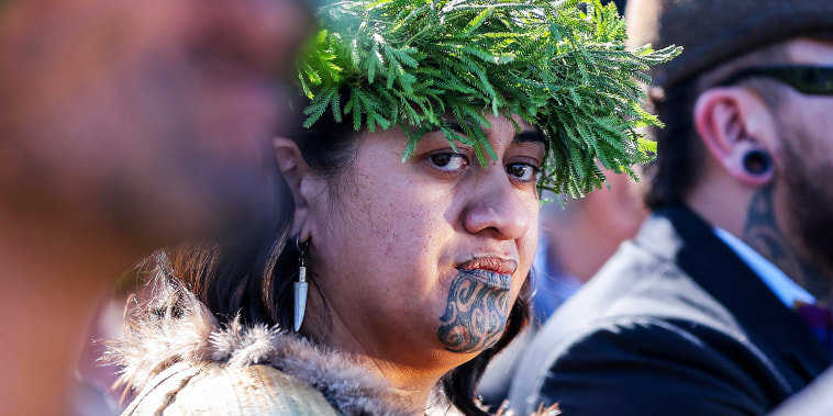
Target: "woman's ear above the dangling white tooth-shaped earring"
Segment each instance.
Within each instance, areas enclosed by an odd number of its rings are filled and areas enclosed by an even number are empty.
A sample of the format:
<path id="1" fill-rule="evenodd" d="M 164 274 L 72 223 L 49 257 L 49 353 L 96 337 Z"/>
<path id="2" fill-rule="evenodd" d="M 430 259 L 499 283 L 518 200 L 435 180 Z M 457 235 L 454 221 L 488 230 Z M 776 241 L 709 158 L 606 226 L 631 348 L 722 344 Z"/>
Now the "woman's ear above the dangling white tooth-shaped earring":
<path id="1" fill-rule="evenodd" d="M 275 137 L 273 148 L 278 169 L 289 185 L 295 202 L 295 221 L 292 222 L 291 235 L 299 236 L 302 241 L 306 241 L 310 237 L 307 226 L 310 201 L 304 195 L 303 183 L 311 179 L 309 166 L 301 156 L 298 145 L 289 138 Z"/>

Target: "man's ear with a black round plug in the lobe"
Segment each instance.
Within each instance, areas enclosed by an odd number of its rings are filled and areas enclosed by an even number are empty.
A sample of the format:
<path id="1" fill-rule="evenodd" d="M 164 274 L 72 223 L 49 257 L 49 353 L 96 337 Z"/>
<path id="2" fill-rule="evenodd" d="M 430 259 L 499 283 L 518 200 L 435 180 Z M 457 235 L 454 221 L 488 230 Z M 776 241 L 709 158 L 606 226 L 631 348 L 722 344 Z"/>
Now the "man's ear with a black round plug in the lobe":
<path id="1" fill-rule="evenodd" d="M 734 180 L 754 188 L 775 176 L 766 147 L 771 140 L 764 137 L 774 132 L 770 117 L 760 98 L 737 87 L 706 90 L 693 110 L 695 128 L 707 151 Z"/>

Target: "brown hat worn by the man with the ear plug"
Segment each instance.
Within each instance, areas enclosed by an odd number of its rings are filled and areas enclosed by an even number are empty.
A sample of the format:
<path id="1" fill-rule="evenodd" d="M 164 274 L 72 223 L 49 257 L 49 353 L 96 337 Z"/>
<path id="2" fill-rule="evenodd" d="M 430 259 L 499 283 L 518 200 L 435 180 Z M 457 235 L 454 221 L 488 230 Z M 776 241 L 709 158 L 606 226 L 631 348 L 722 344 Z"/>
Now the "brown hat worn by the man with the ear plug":
<path id="1" fill-rule="evenodd" d="M 833 0 L 630 0 L 625 19 L 632 45 L 682 46 L 651 69 L 652 83 L 666 89 L 758 47 L 825 32 L 833 38 Z"/>

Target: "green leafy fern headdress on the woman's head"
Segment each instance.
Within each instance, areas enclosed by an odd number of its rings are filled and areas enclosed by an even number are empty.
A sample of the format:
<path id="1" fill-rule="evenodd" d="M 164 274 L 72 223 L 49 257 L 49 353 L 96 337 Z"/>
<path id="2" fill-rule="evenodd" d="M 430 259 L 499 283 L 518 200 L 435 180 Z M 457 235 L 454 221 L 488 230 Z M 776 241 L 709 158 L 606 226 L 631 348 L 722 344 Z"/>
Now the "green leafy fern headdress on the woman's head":
<path id="1" fill-rule="evenodd" d="M 356 131 L 401 127 L 403 159 L 438 128 L 485 164 L 496 155 L 484 114 L 518 114 L 549 140 L 540 189 L 573 195 L 601 187 L 597 161 L 635 177 L 631 166 L 651 159 L 637 128 L 659 122 L 638 82 L 679 52 L 626 48 L 624 20 L 599 0 L 338 1 L 320 18 L 299 65 L 307 127 L 326 111 Z"/>

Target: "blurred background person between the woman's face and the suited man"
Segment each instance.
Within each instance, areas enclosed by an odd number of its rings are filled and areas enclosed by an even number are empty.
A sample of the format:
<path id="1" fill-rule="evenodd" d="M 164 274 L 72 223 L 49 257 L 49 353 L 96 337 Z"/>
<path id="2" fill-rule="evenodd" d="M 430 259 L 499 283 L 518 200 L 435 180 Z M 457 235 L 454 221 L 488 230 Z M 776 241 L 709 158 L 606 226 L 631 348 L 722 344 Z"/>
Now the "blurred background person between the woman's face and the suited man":
<path id="1" fill-rule="evenodd" d="M 626 175 L 606 175 L 610 187 L 568 199 L 565 204 L 557 202 L 562 196 L 545 193 L 555 201 L 541 206 L 538 247 L 532 266 L 533 322 L 489 364 L 478 390 L 484 403 L 499 406 L 508 398 L 512 375 L 530 339 L 645 220 L 641 184 Z"/>

